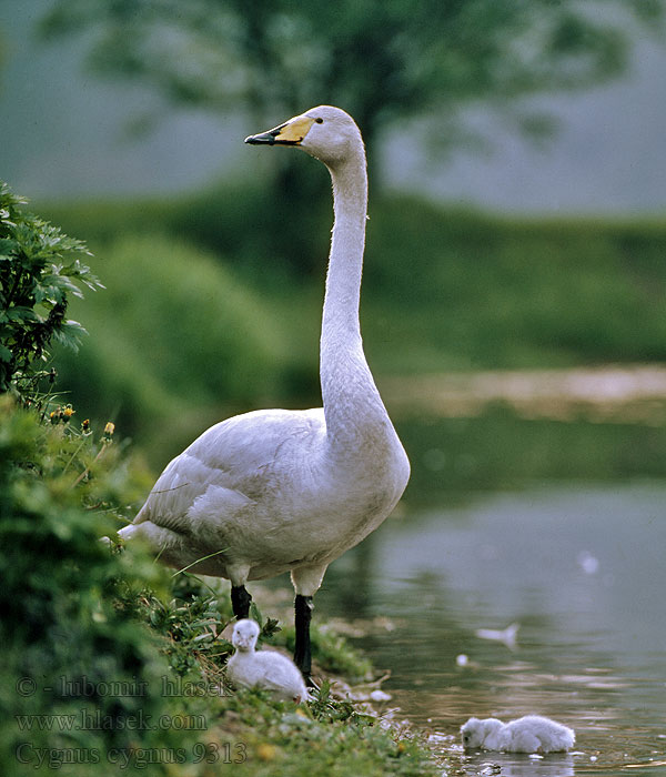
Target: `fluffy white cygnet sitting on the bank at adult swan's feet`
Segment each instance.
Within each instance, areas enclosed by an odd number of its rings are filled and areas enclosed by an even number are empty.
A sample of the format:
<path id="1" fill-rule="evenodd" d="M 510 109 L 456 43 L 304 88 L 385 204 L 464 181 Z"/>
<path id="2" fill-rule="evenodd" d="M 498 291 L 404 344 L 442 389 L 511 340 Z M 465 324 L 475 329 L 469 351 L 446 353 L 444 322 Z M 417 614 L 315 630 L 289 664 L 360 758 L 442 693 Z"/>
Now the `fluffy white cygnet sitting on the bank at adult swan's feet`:
<path id="1" fill-rule="evenodd" d="M 235 624 L 231 637 L 235 653 L 226 664 L 226 676 L 234 685 L 272 690 L 284 702 L 305 702 L 307 688 L 295 664 L 280 653 L 255 649 L 259 630 L 250 618 Z"/>

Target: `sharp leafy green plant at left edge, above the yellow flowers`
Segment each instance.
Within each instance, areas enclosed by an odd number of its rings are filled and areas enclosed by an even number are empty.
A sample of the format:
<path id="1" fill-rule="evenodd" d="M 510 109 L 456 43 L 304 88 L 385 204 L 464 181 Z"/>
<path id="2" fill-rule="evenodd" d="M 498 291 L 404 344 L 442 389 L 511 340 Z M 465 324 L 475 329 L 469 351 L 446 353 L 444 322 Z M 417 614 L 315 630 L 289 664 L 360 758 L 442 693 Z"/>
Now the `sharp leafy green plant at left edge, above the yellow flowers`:
<path id="1" fill-rule="evenodd" d="M 84 331 L 65 319 L 70 294 L 101 283 L 81 262 L 90 255 L 85 245 L 24 213 L 24 203 L 0 182 L 0 392 L 27 402 L 51 342 L 75 347 Z"/>

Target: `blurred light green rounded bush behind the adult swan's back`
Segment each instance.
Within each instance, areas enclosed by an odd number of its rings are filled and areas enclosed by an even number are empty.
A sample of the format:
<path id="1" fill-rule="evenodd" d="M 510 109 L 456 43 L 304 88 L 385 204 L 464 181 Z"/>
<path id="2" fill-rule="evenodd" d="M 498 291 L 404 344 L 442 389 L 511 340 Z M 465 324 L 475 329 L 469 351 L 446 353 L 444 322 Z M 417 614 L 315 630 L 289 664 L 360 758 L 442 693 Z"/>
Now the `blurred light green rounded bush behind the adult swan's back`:
<path id="1" fill-rule="evenodd" d="M 100 253 L 107 291 L 74 306 L 91 336 L 75 357 L 58 354 L 60 385 L 83 413 L 125 435 L 152 428 L 175 453 L 192 426 L 279 391 L 275 323 L 213 256 L 150 235 Z"/>

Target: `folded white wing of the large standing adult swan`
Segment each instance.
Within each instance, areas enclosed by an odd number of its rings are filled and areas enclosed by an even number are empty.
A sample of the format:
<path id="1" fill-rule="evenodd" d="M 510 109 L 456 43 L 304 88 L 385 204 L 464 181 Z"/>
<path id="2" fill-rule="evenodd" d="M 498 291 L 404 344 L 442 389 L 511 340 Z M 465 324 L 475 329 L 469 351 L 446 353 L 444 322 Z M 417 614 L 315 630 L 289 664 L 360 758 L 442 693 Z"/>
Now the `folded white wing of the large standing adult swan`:
<path id="1" fill-rule="evenodd" d="M 186 532 L 193 521 L 236 514 L 261 494 L 291 442 L 321 434 L 323 411 L 255 411 L 215 424 L 170 462 L 134 523 Z"/>

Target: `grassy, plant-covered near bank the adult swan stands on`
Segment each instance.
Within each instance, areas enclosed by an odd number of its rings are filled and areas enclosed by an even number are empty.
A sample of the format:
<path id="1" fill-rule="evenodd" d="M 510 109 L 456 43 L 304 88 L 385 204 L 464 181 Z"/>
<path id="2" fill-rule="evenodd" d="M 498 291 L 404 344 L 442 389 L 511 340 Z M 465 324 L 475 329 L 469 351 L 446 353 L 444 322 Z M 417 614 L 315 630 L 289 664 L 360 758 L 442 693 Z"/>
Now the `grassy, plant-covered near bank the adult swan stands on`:
<path id="1" fill-rule="evenodd" d="M 108 432 L 73 418 L 44 423 L 0 403 L 4 774 L 437 773 L 415 736 L 332 692 L 333 675 L 367 684 L 373 672 L 323 624 L 313 644 L 322 685 L 307 705 L 231 688 L 229 585 L 99 542 L 135 512 L 143 470 Z M 254 608 L 264 643 L 291 648 L 284 606 L 253 593 L 281 618 Z"/>

